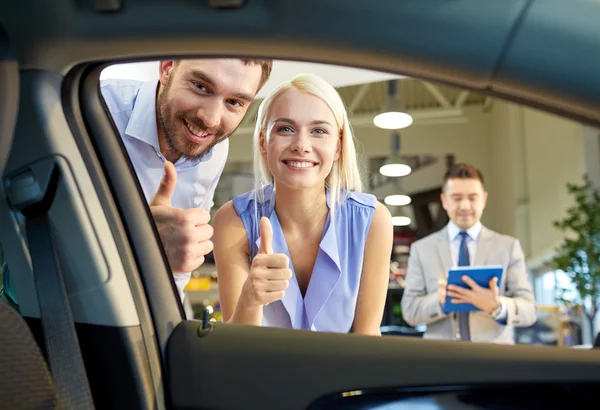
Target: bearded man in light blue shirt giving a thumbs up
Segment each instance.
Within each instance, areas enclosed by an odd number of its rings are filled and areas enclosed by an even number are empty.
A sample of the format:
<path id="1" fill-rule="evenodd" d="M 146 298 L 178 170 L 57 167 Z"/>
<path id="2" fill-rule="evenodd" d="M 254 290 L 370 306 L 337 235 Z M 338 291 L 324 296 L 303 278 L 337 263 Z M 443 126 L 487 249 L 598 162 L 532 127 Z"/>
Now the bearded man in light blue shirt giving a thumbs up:
<path id="1" fill-rule="evenodd" d="M 182 299 L 191 271 L 212 251 L 209 211 L 227 138 L 271 68 L 271 60 L 168 60 L 158 80 L 101 82 Z"/>

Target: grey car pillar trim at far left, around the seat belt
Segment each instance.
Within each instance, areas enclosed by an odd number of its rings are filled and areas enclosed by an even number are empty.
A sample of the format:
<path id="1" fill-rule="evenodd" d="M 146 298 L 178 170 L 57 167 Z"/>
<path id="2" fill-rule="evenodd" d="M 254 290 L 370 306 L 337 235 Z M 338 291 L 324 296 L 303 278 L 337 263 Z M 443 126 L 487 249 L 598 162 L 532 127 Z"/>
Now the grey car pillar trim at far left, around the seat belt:
<path id="1" fill-rule="evenodd" d="M 48 226 L 95 404 L 156 407 L 162 402 L 162 386 L 153 327 L 144 305 L 134 302 L 136 292 L 138 298 L 142 292 L 134 264 L 128 261 L 127 247 L 114 240 L 117 225 L 108 222 L 110 206 L 101 204 L 63 114 L 63 77 L 21 69 L 20 85 L 19 117 L 0 198 L 0 238 L 19 311 L 44 346 L 38 293 L 49 290 L 36 289 L 39 265 L 35 260 L 32 265 L 33 238 L 27 236 L 19 202 L 25 191 L 43 194 L 52 182 Z"/>

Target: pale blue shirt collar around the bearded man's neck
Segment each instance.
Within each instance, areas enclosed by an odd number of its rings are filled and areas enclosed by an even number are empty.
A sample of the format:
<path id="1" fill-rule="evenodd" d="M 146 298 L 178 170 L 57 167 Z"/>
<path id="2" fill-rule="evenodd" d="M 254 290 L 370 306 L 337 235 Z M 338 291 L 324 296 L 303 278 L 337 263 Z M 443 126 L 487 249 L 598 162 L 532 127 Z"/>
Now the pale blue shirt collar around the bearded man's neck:
<path id="1" fill-rule="evenodd" d="M 131 118 L 127 123 L 127 128 L 125 128 L 125 134 L 151 145 L 159 153 L 160 144 L 158 143 L 158 129 L 156 128 L 157 87 L 158 79 L 149 80 L 142 84 L 133 105 Z M 180 158 L 176 165 L 183 163 L 197 165 L 200 162 L 208 161 L 212 157 L 212 153 L 213 150 L 211 149 L 201 159 L 193 161 Z"/>

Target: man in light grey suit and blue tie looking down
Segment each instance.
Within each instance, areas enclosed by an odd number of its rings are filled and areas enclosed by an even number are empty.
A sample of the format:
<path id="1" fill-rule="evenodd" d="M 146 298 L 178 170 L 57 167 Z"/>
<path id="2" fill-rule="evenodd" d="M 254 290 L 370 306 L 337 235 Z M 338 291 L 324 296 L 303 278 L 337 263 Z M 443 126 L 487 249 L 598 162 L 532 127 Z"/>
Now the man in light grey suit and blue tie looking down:
<path id="1" fill-rule="evenodd" d="M 536 307 L 527 279 L 525 257 L 519 241 L 482 226 L 487 201 L 481 172 L 469 164 L 457 164 L 446 173 L 442 206 L 450 222 L 439 232 L 412 244 L 402 298 L 404 319 L 411 325 L 427 324 L 428 339 L 514 343 L 514 327 L 536 321 Z M 472 303 L 477 312 L 446 314 L 446 276 L 453 266 L 502 265 L 504 271 L 489 288 L 468 276 L 468 289 L 450 285 L 453 303 Z"/>

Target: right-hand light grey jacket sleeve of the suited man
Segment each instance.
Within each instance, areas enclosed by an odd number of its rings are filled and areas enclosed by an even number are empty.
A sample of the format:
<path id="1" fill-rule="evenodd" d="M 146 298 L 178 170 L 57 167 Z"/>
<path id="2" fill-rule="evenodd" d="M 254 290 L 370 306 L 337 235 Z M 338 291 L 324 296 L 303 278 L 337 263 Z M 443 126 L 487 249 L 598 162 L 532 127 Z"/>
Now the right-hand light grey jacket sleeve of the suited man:
<path id="1" fill-rule="evenodd" d="M 537 309 L 533 289 L 527 278 L 525 255 L 519 240 L 511 249 L 510 262 L 506 272 L 506 292 L 500 296 L 502 312 L 498 322 L 516 327 L 531 326 L 537 320 Z"/>

